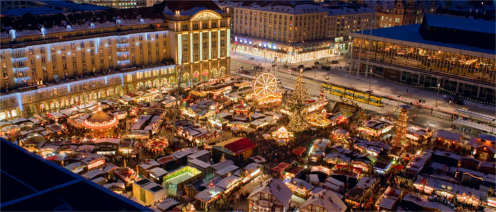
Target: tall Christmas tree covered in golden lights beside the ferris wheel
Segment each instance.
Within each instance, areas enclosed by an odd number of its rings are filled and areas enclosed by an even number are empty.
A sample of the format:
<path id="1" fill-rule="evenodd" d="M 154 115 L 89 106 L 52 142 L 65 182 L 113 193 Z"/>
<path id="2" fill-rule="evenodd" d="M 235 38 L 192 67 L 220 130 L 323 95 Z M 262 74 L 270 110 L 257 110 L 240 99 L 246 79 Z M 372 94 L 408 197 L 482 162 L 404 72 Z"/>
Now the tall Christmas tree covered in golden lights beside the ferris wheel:
<path id="1" fill-rule="evenodd" d="M 303 76 L 296 78 L 295 90 L 291 93 L 291 98 L 288 100 L 288 107 L 291 112 L 289 116 L 288 129 L 290 131 L 304 131 L 308 129 L 307 114 L 306 109 L 307 100 L 309 98 L 308 90 L 305 87 L 305 82 L 303 82 Z"/>

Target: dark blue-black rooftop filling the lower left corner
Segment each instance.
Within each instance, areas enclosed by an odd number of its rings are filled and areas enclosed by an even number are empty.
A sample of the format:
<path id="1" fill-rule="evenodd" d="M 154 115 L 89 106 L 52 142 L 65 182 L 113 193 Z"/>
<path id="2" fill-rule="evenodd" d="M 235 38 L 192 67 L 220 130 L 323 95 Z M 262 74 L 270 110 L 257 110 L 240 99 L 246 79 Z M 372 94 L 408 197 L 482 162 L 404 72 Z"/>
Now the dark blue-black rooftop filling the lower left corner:
<path id="1" fill-rule="evenodd" d="M 5 139 L 0 140 L 1 211 L 150 211 Z"/>

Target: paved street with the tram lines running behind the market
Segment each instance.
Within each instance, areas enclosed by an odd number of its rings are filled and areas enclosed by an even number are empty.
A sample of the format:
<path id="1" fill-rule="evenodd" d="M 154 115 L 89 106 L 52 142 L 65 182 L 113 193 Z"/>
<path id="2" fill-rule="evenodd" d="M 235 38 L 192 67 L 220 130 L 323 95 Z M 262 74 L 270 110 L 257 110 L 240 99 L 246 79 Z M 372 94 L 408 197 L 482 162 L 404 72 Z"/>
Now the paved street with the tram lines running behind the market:
<path id="1" fill-rule="evenodd" d="M 338 60 L 339 64 L 326 64 L 327 66 L 331 66 L 331 71 L 325 71 L 322 69 L 315 69 L 311 71 L 304 71 L 303 75 L 309 81 L 316 81 L 318 83 L 329 82 L 334 83 L 339 86 L 346 86 L 350 88 L 354 88 L 356 90 L 366 91 L 369 90 L 369 83 L 371 84 L 371 90 L 376 95 L 381 95 L 385 97 L 389 97 L 391 100 L 384 100 L 384 102 L 388 105 L 398 105 L 398 96 L 400 96 L 400 100 L 402 102 L 418 102 L 419 99 L 425 100 L 425 104 L 423 107 L 427 107 L 428 110 L 433 108 L 434 111 L 444 112 L 444 113 L 454 113 L 454 110 L 458 108 L 466 108 L 471 111 L 479 112 L 482 114 L 495 115 L 495 106 L 492 105 L 484 105 L 479 102 L 473 102 L 470 100 L 465 100 L 464 105 L 449 105 L 449 102 L 443 100 L 443 96 L 446 95 L 444 93 L 439 93 L 439 97 L 436 91 L 433 90 L 422 90 L 418 88 L 413 88 L 410 86 L 400 85 L 398 83 L 386 81 L 383 78 L 373 77 L 370 79 L 364 78 L 363 76 L 356 76 L 356 73 L 350 74 L 348 71 L 344 71 L 347 69 L 346 59 L 344 57 L 331 57 L 327 59 L 328 61 Z M 313 66 L 315 61 L 320 61 L 321 63 L 325 63 L 327 60 L 319 59 L 313 61 L 305 61 L 303 63 L 296 64 L 288 64 L 291 67 L 297 67 L 300 64 L 303 64 L 305 67 Z M 247 54 L 235 54 L 232 56 L 232 73 L 236 73 L 237 70 L 243 66 L 244 69 L 252 68 L 253 64 L 261 64 L 261 66 L 265 67 L 265 71 L 272 71 L 276 74 L 278 78 L 282 76 L 288 76 L 289 78 L 295 78 L 296 73 L 292 73 L 294 71 L 289 71 L 288 69 L 283 69 L 283 64 L 278 64 L 278 71 L 274 69 L 271 65 L 273 61 L 269 59 L 267 62 L 264 62 L 265 59 L 262 57 L 254 57 L 252 55 Z M 320 66 L 320 65 L 319 65 Z M 342 71 L 339 71 L 341 68 Z M 282 79 L 281 79 L 282 81 Z M 284 83 L 283 83 L 284 84 Z M 286 86 L 286 85 L 283 85 Z M 291 85 L 287 85 L 291 86 Z M 292 87 L 292 86 L 291 86 Z M 310 93 L 312 93 L 313 89 L 310 89 Z M 320 88 L 319 88 L 320 90 Z M 314 92 L 315 93 L 315 92 Z M 313 94 L 313 93 L 312 93 Z M 446 95 L 446 97 L 450 97 Z M 436 98 L 437 107 L 436 107 Z M 450 117 L 451 118 L 451 117 Z"/>

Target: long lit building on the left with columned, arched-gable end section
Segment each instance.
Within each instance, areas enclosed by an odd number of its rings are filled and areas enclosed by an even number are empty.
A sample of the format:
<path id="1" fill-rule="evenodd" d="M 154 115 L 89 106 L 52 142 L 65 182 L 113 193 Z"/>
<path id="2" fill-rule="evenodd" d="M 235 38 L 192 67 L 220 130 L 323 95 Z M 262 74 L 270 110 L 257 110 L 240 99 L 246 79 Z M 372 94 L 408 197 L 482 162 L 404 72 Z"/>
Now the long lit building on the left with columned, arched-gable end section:
<path id="1" fill-rule="evenodd" d="M 212 1 L 2 17 L 0 120 L 225 76 L 229 21 Z"/>

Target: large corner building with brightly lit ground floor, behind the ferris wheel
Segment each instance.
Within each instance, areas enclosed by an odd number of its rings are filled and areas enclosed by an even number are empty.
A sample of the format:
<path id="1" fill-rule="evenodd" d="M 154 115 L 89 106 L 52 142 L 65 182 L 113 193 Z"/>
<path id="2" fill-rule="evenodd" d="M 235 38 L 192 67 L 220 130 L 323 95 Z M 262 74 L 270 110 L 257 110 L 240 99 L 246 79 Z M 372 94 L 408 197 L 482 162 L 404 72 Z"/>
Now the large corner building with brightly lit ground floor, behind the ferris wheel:
<path id="1" fill-rule="evenodd" d="M 234 51 L 283 63 L 331 56 L 349 32 L 370 29 L 375 11 L 365 5 L 308 1 L 218 1 L 232 13 Z M 334 46 L 337 44 L 337 46 Z"/>

